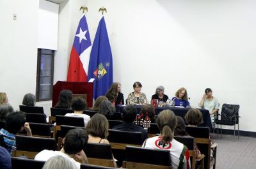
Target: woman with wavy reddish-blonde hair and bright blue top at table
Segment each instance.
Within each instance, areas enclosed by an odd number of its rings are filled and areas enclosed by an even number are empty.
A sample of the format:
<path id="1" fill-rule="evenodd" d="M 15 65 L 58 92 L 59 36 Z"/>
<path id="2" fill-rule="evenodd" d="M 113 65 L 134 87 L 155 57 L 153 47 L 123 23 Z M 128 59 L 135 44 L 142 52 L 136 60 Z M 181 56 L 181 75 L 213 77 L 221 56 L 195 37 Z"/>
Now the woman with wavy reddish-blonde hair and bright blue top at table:
<path id="1" fill-rule="evenodd" d="M 184 87 L 181 87 L 176 93 L 175 97 L 172 98 L 174 106 L 188 107 L 188 92 Z"/>

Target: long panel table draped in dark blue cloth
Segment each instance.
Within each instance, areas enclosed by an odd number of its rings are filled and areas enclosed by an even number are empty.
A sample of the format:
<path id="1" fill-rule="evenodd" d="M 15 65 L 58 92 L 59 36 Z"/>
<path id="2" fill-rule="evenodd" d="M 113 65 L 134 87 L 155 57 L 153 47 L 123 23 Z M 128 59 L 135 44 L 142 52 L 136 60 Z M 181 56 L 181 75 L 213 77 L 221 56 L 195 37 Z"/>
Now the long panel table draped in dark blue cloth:
<path id="1" fill-rule="evenodd" d="M 116 112 L 122 113 L 122 110 L 123 110 L 124 107 L 125 106 L 122 106 L 122 105 L 116 105 Z M 140 114 L 142 106 L 136 105 L 134 107 L 136 107 L 137 114 Z M 158 115 L 159 112 L 161 112 L 163 110 L 166 110 L 166 109 L 172 110 L 175 115 L 179 115 L 180 117 L 182 117 L 184 119 L 186 113 L 188 112 L 188 110 L 190 108 L 157 107 L 157 108 L 155 108 L 156 115 Z M 209 110 L 206 110 L 204 108 L 200 108 L 199 110 L 200 110 L 200 112 L 202 112 L 203 121 L 204 121 L 202 124 L 200 124 L 200 126 L 209 127 L 209 129 L 211 131 L 211 129 L 212 129 L 212 122 L 211 122 L 211 117 L 210 117 L 210 114 L 209 114 Z"/>

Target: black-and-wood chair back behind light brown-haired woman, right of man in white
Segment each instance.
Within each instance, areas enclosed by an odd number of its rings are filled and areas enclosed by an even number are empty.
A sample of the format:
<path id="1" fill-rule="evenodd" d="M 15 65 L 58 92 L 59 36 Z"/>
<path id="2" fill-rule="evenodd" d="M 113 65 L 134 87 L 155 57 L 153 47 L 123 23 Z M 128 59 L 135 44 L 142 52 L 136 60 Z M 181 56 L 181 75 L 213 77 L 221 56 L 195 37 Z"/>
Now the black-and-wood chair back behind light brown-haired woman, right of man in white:
<path id="1" fill-rule="evenodd" d="M 84 152 L 90 165 L 114 166 L 111 145 L 104 143 L 87 143 Z"/>

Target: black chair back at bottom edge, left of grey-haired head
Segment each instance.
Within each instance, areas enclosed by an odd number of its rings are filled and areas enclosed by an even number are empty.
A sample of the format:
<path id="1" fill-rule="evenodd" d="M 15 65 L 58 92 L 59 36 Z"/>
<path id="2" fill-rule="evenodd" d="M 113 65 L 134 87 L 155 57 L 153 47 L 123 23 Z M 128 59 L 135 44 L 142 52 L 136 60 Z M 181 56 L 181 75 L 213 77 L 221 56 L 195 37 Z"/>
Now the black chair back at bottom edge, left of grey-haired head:
<path id="1" fill-rule="evenodd" d="M 35 159 L 26 158 L 14 158 L 12 157 L 12 169 L 41 169 L 44 166 L 45 161 L 38 161 Z"/>

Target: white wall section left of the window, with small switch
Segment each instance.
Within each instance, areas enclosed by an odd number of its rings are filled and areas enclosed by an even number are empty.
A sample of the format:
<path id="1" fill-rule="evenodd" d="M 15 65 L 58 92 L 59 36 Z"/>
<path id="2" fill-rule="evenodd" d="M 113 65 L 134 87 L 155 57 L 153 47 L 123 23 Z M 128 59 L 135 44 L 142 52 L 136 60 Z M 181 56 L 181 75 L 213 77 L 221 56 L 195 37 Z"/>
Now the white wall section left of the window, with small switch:
<path id="1" fill-rule="evenodd" d="M 0 1 L 0 91 L 8 94 L 15 109 L 24 94 L 36 91 L 38 2 Z"/>

